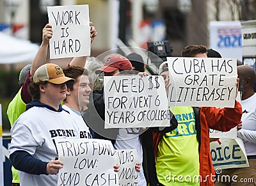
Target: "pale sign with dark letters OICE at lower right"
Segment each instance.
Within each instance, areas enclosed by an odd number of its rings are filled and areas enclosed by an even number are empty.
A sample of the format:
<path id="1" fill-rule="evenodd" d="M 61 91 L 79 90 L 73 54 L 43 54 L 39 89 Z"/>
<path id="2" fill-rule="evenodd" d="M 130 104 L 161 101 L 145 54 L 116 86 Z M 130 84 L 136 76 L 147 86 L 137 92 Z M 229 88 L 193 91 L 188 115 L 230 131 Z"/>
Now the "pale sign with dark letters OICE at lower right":
<path id="1" fill-rule="evenodd" d="M 248 167 L 243 140 L 221 138 L 210 143 L 212 164 L 215 169 Z"/>

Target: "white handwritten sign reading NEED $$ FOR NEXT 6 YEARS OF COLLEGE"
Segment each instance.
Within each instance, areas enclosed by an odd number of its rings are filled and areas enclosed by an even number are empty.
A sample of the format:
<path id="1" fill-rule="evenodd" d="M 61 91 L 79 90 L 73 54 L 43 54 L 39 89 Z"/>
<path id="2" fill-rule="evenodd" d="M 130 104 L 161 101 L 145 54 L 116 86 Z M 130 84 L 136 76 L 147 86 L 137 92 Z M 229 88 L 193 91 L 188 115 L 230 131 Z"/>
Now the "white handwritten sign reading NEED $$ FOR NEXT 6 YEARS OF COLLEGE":
<path id="1" fill-rule="evenodd" d="M 163 77 L 104 77 L 105 128 L 166 127 L 170 112 Z"/>

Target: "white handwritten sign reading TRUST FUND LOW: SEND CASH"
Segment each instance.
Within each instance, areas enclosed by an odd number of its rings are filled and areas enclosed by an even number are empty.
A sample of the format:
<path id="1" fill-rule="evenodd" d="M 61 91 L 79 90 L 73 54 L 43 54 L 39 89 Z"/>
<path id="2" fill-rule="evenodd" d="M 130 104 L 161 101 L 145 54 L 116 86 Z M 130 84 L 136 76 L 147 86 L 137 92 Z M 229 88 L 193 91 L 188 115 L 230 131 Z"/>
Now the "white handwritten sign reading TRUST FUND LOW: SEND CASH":
<path id="1" fill-rule="evenodd" d="M 63 169 L 58 185 L 118 185 L 115 149 L 102 139 L 56 139 Z"/>

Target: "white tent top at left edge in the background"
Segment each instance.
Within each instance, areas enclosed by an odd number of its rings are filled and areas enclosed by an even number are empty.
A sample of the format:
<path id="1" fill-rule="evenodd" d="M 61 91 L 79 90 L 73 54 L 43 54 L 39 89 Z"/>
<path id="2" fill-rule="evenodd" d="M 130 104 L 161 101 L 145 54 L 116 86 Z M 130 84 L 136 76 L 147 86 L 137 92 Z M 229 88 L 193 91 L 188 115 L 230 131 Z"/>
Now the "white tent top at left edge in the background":
<path id="1" fill-rule="evenodd" d="M 0 32 L 0 64 L 31 63 L 39 46 Z"/>

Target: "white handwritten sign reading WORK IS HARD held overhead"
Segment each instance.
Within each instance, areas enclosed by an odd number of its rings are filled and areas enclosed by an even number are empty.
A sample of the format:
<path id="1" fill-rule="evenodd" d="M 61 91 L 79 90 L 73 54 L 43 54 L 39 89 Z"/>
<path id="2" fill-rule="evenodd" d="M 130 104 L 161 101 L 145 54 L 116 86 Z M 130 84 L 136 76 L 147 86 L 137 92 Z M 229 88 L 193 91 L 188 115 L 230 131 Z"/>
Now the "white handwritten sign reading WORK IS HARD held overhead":
<path id="1" fill-rule="evenodd" d="M 52 26 L 50 58 L 90 56 L 90 19 L 88 4 L 48 6 Z"/>

